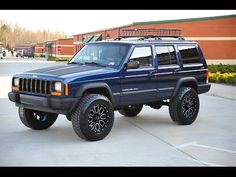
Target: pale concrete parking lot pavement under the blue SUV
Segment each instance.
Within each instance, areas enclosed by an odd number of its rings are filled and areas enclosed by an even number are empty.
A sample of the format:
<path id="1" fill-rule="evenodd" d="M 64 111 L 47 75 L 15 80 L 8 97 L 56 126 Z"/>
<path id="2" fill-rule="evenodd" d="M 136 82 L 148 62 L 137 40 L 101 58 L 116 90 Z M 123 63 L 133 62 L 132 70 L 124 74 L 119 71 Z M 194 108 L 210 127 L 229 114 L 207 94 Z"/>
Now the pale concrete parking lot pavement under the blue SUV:
<path id="1" fill-rule="evenodd" d="M 0 61 L 0 166 L 236 166 L 233 99 L 200 95 L 198 118 L 188 126 L 173 123 L 166 106 L 160 110 L 145 106 L 135 118 L 115 112 L 110 134 L 88 142 L 77 137 L 63 115 L 43 131 L 20 122 L 17 108 L 7 98 L 11 76 L 62 63 L 19 60 Z"/>

